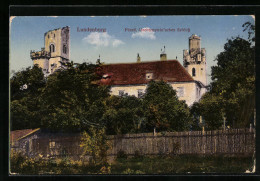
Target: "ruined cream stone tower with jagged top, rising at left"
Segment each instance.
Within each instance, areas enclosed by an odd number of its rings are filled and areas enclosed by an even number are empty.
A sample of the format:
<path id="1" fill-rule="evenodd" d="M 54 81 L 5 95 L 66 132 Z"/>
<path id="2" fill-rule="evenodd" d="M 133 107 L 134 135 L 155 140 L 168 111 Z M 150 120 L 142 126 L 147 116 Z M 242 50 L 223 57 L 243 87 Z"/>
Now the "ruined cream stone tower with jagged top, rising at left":
<path id="1" fill-rule="evenodd" d="M 30 52 L 33 65 L 42 68 L 48 76 L 64 66 L 70 59 L 70 28 L 68 26 L 44 34 L 44 48 Z"/>

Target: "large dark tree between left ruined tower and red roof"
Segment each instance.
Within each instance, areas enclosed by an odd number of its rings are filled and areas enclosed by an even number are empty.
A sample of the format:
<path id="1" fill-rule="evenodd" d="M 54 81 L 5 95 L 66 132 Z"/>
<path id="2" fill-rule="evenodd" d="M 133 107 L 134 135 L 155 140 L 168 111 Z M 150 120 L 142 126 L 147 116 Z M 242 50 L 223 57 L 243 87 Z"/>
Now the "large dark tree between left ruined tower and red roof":
<path id="1" fill-rule="evenodd" d="M 73 64 L 48 77 L 42 89 L 40 113 L 42 125 L 53 130 L 88 130 L 89 125 L 102 126 L 104 99 L 109 88 L 98 84 L 97 65 Z"/>

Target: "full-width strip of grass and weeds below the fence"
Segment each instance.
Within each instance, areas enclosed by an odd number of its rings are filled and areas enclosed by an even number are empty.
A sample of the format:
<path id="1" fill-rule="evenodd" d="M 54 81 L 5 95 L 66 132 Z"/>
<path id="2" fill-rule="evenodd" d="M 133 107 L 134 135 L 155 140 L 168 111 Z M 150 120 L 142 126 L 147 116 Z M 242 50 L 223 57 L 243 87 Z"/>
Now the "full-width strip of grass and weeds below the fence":
<path id="1" fill-rule="evenodd" d="M 69 158 L 32 159 L 11 157 L 11 172 L 18 174 L 189 174 L 244 173 L 251 170 L 251 157 L 227 156 L 153 156 L 118 158 L 112 164 L 89 165 Z"/>

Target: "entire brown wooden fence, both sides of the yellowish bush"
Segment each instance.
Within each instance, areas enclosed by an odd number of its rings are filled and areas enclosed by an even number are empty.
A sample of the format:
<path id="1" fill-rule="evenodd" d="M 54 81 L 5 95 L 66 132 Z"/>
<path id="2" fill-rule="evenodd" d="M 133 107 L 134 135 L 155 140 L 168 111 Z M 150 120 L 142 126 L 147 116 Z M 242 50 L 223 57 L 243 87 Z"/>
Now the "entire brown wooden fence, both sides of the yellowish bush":
<path id="1" fill-rule="evenodd" d="M 162 154 L 226 154 L 252 155 L 255 150 L 254 129 L 232 129 L 217 131 L 191 131 L 166 133 L 140 133 L 108 136 L 111 148 L 109 156 L 119 151 L 134 155 Z M 44 134 L 28 141 L 30 155 L 80 157 L 82 148 L 80 135 Z M 26 143 L 27 144 L 27 143 Z M 25 145 L 25 144 L 23 144 Z"/>

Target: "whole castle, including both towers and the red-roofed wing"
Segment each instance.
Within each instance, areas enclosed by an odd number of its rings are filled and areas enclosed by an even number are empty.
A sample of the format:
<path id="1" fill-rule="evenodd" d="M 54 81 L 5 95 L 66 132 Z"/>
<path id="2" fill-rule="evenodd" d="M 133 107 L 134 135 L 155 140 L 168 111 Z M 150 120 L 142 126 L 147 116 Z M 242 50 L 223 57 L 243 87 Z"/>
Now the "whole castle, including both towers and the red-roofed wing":
<path id="1" fill-rule="evenodd" d="M 201 38 L 189 38 L 189 50 L 183 51 L 183 66 L 176 57 L 168 60 L 161 50 L 160 59 L 141 61 L 139 54 L 134 63 L 102 64 L 98 71 L 100 83 L 111 86 L 112 95 L 142 97 L 151 80 L 163 80 L 176 90 L 180 100 L 188 106 L 200 100 L 207 91 L 206 50 L 200 48 Z M 70 59 L 70 28 L 68 26 L 48 31 L 44 34 L 44 48 L 31 51 L 34 65 L 42 68 L 44 75 L 65 69 Z M 100 56 L 97 62 L 100 63 Z"/>

